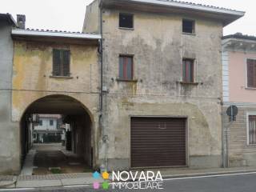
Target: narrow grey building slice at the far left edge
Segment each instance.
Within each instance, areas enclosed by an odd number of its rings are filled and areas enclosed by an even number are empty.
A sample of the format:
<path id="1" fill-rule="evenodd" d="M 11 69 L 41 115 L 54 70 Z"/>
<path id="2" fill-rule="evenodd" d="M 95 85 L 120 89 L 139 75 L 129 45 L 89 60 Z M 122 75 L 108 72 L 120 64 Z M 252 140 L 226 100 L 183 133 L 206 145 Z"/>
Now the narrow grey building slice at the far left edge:
<path id="1" fill-rule="evenodd" d="M 0 14 L 0 173 L 10 174 L 18 169 L 18 130 L 11 121 L 11 89 L 13 41 L 10 36 L 16 22 L 10 14 Z"/>

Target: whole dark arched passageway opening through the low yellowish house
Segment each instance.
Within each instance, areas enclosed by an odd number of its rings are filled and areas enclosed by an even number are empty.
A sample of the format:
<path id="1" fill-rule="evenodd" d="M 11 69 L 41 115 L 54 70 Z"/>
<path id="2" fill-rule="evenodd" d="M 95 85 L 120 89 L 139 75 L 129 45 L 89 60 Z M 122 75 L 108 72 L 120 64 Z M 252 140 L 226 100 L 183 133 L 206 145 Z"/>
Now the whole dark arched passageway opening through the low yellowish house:
<path id="1" fill-rule="evenodd" d="M 33 174 L 47 174 L 52 167 L 61 167 L 61 173 L 91 168 L 92 118 L 86 106 L 70 96 L 50 95 L 32 102 L 20 122 L 22 165 L 32 155 L 38 167 Z"/>

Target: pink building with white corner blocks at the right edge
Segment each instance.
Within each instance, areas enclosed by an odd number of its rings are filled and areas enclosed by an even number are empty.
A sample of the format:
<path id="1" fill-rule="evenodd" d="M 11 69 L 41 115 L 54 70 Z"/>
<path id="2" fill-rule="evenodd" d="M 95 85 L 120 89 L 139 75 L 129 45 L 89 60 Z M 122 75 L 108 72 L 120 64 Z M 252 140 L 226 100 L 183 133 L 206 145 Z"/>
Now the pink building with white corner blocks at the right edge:
<path id="1" fill-rule="evenodd" d="M 237 33 L 222 38 L 222 88 L 223 114 L 228 106 L 238 106 L 235 122 L 223 115 L 227 162 L 256 166 L 256 37 Z"/>

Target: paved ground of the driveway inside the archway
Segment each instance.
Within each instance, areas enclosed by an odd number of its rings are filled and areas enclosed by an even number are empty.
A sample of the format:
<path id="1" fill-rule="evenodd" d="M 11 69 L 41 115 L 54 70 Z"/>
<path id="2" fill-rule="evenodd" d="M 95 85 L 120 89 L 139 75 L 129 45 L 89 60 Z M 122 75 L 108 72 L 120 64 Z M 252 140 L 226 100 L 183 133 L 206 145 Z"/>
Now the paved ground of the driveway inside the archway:
<path id="1" fill-rule="evenodd" d="M 90 167 L 82 157 L 67 151 L 61 143 L 34 144 L 22 170 L 23 174 L 34 175 L 83 172 L 91 172 Z"/>

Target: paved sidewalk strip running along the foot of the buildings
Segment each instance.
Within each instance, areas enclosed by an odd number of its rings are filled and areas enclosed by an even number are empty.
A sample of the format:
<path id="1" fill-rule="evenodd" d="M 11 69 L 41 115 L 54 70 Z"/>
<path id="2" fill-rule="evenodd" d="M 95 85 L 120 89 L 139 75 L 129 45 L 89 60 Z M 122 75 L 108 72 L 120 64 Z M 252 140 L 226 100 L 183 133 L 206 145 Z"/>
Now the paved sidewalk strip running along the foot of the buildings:
<path id="1" fill-rule="evenodd" d="M 186 178 L 215 174 L 238 174 L 256 172 L 256 166 L 213 169 L 169 168 L 159 170 L 161 171 L 163 178 Z M 0 176 L 0 188 L 75 186 L 90 185 L 93 182 L 101 181 L 98 179 L 95 180 L 92 177 L 92 173 Z"/>

